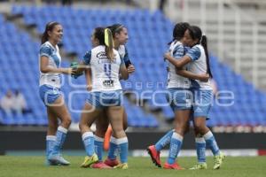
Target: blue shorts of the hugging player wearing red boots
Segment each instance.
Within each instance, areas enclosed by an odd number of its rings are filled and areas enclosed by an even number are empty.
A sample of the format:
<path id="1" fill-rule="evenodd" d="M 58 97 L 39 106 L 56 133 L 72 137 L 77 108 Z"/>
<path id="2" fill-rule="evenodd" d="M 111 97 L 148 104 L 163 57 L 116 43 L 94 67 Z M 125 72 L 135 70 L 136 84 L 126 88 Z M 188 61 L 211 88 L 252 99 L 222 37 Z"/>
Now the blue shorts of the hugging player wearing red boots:
<path id="1" fill-rule="evenodd" d="M 176 112 L 176 110 L 192 109 L 192 92 L 189 89 L 168 89 L 166 97 L 173 112 Z"/>

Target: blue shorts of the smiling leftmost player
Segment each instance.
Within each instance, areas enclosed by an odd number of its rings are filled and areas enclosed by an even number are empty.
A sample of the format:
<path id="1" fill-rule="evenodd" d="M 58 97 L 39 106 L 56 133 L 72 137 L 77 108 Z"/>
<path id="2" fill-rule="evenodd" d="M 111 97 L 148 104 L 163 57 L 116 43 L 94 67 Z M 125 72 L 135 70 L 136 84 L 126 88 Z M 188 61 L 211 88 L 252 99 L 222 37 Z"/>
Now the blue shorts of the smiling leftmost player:
<path id="1" fill-rule="evenodd" d="M 59 88 L 54 88 L 49 85 L 42 85 L 39 88 L 39 94 L 43 100 L 43 104 L 49 105 L 53 104 L 59 96 L 62 95 L 62 92 Z"/>

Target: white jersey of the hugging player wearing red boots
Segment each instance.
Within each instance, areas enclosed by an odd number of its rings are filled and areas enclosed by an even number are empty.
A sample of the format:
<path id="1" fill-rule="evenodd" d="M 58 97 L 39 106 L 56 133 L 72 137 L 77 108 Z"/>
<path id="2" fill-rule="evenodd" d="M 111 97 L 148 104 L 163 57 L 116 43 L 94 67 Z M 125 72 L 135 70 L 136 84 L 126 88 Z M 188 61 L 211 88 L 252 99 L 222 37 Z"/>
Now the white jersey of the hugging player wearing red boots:
<path id="1" fill-rule="evenodd" d="M 170 44 L 169 52 L 173 58 L 179 59 L 184 57 L 184 46 L 181 42 L 174 41 Z M 186 67 L 186 66 L 184 66 Z M 191 82 L 189 79 L 176 74 L 176 66 L 168 62 L 168 89 L 184 88 L 189 89 Z"/>

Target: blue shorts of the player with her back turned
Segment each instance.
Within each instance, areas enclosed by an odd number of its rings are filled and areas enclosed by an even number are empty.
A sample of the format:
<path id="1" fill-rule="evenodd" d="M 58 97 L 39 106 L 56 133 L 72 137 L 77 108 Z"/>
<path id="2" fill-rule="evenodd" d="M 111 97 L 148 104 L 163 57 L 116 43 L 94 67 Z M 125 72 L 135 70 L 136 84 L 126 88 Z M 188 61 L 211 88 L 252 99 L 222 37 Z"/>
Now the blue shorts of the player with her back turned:
<path id="1" fill-rule="evenodd" d="M 122 98 L 122 90 L 109 92 L 90 92 L 87 102 L 100 109 L 110 106 L 121 106 Z"/>

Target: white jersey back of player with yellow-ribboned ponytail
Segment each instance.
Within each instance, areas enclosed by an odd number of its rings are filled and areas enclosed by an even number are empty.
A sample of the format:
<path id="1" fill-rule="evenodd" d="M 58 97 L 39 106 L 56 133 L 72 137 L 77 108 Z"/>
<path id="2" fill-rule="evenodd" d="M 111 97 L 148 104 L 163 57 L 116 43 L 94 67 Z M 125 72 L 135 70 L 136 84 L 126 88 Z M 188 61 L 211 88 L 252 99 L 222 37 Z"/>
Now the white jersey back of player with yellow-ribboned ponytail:
<path id="1" fill-rule="evenodd" d="M 119 71 L 123 61 L 117 50 L 113 50 L 113 53 L 114 59 L 111 61 L 106 57 L 106 47 L 100 45 L 83 57 L 83 62 L 91 68 L 92 92 L 121 89 Z"/>

